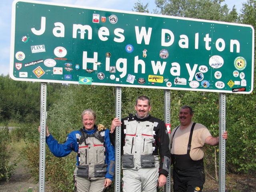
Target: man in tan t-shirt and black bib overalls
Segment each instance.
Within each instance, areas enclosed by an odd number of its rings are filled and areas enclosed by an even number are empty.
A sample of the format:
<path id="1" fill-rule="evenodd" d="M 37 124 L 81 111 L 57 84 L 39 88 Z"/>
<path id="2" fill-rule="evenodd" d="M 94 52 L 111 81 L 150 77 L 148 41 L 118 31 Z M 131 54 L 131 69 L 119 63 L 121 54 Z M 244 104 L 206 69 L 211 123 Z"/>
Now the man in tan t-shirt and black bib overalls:
<path id="1" fill-rule="evenodd" d="M 180 126 L 171 134 L 174 192 L 202 192 L 205 182 L 204 144 L 219 144 L 219 137 L 213 137 L 204 125 L 192 122 L 192 117 L 192 108 L 182 106 Z M 228 132 L 225 131 L 222 137 L 227 139 Z"/>

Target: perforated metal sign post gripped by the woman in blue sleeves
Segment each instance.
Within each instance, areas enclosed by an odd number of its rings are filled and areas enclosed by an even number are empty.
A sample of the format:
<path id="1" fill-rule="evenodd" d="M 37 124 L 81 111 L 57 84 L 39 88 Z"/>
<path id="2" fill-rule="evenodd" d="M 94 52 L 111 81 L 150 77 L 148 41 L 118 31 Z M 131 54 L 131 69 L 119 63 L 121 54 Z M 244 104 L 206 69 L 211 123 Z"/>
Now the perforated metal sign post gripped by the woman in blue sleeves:
<path id="1" fill-rule="evenodd" d="M 46 145 L 46 90 L 47 84 L 41 83 L 40 109 L 40 158 L 39 158 L 39 192 L 44 192 L 45 145 Z"/>

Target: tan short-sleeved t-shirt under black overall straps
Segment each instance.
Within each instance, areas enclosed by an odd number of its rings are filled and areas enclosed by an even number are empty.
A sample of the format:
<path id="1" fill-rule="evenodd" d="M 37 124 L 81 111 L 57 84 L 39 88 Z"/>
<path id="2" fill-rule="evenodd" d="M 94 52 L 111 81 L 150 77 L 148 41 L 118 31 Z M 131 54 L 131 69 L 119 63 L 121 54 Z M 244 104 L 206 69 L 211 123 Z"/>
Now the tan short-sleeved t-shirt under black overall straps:
<path id="1" fill-rule="evenodd" d="M 171 154 L 177 154 L 177 155 L 187 154 L 188 139 L 189 139 L 190 130 L 193 123 L 194 122 L 191 122 L 190 125 L 184 130 L 180 130 L 180 127 L 176 132 L 175 130 L 177 129 L 177 127 L 174 128 L 174 130 L 172 130 L 171 140 L 170 140 L 170 142 L 172 142 Z M 172 138 L 173 134 L 174 134 L 174 138 Z M 192 160 L 196 161 L 204 157 L 204 144 L 208 136 L 211 136 L 209 130 L 202 124 L 197 123 L 194 127 L 192 140 L 191 140 L 190 158 Z"/>

